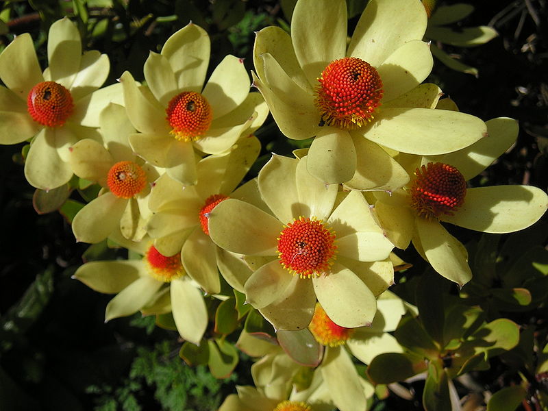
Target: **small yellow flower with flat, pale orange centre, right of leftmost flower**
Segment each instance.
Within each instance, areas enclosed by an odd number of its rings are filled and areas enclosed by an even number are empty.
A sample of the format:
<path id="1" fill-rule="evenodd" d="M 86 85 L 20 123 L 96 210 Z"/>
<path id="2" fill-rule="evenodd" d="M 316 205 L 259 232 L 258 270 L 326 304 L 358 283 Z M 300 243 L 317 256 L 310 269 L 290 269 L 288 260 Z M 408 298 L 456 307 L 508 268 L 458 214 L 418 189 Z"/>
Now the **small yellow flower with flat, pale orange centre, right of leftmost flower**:
<path id="1" fill-rule="evenodd" d="M 70 149 L 74 173 L 103 188 L 99 197 L 77 212 L 72 223 L 74 236 L 95 243 L 119 228 L 125 238 L 139 241 L 145 236 L 150 184 L 159 177 L 158 171 L 129 147 L 127 138 L 135 129 L 125 108 L 111 103 L 101 112 L 99 124 L 102 142 L 84 138 Z"/>

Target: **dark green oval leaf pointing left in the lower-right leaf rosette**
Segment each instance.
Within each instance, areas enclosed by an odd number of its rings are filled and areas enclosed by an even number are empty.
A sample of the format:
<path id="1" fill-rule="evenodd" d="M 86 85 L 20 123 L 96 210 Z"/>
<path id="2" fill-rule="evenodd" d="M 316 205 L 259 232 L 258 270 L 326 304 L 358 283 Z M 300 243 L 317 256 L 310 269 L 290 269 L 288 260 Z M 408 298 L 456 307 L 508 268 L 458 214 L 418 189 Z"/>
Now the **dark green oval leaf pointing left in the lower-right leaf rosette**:
<path id="1" fill-rule="evenodd" d="M 427 369 L 427 362 L 419 356 L 401 353 L 384 353 L 371 360 L 367 375 L 375 384 L 403 381 Z"/>

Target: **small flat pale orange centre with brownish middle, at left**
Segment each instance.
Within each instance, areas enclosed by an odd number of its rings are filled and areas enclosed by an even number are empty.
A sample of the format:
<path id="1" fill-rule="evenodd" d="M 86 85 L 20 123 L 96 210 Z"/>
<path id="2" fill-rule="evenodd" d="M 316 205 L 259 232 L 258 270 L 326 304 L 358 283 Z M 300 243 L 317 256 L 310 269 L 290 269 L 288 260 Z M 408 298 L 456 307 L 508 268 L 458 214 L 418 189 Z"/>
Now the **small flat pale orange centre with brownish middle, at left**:
<path id="1" fill-rule="evenodd" d="M 117 162 L 108 171 L 107 185 L 116 197 L 130 199 L 141 192 L 146 184 L 147 174 L 132 161 Z"/>

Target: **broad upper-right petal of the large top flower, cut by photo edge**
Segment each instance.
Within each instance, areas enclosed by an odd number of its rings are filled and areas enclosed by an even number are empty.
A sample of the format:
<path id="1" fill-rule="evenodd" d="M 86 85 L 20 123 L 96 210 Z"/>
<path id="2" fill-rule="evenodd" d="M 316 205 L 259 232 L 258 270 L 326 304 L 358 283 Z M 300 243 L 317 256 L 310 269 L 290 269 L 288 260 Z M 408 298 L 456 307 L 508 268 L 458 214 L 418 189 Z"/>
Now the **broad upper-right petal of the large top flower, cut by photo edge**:
<path id="1" fill-rule="evenodd" d="M 421 40 L 427 25 L 419 1 L 371 0 L 354 30 L 347 55 L 378 67 L 410 40 Z"/>

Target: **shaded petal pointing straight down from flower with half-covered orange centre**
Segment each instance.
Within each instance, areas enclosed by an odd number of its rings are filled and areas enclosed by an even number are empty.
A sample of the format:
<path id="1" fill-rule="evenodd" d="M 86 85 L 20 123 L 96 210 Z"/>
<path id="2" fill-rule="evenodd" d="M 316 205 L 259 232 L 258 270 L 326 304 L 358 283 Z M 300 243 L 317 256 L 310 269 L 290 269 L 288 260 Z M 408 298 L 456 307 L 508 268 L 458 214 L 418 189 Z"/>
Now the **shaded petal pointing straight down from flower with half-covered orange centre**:
<path id="1" fill-rule="evenodd" d="M 221 291 L 216 264 L 216 245 L 197 227 L 184 242 L 181 260 L 184 269 L 208 294 Z"/>

